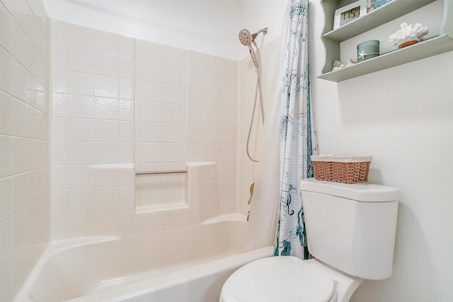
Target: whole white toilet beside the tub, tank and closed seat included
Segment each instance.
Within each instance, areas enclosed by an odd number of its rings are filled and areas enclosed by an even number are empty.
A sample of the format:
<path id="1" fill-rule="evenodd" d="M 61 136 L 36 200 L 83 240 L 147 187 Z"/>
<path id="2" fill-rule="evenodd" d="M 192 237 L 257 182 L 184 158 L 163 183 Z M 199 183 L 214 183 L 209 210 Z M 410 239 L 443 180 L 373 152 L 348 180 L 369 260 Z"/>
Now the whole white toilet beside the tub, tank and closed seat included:
<path id="1" fill-rule="evenodd" d="M 250 262 L 225 281 L 220 302 L 347 302 L 365 279 L 391 276 L 398 188 L 307 178 L 300 189 L 315 259 Z"/>

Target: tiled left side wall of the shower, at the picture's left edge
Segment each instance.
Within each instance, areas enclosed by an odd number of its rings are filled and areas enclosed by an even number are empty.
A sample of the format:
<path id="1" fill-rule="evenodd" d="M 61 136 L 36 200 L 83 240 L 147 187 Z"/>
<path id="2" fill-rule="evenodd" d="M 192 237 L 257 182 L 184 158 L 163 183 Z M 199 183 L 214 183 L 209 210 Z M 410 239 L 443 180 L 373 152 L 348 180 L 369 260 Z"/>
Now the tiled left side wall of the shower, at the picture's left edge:
<path id="1" fill-rule="evenodd" d="M 0 301 L 49 237 L 48 23 L 34 1 L 0 1 Z"/>

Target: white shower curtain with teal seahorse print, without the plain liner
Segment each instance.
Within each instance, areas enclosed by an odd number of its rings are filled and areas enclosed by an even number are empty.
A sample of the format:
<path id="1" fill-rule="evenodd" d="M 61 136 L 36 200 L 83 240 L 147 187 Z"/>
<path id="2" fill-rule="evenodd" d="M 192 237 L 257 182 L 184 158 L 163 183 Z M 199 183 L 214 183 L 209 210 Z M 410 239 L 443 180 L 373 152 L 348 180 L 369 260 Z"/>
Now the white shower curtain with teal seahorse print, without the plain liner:
<path id="1" fill-rule="evenodd" d="M 308 60 L 308 0 L 291 0 L 285 75 L 280 94 L 280 207 L 274 255 L 311 257 L 306 247 L 300 181 L 314 176 L 317 144 L 312 123 Z"/>

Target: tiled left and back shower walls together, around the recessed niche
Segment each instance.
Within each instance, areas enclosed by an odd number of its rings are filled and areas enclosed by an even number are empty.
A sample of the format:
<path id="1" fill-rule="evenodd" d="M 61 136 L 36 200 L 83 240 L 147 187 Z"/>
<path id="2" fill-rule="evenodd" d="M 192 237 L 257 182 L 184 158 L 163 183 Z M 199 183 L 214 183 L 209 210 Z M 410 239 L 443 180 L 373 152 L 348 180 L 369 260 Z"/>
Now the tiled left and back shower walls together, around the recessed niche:
<path id="1" fill-rule="evenodd" d="M 237 211 L 239 183 L 245 213 L 253 180 L 243 152 L 255 84 L 248 58 L 239 73 L 229 59 L 45 21 L 33 15 L 37 5 L 0 2 L 2 301 L 21 286 L 49 232 L 197 223 Z M 134 165 L 188 168 L 190 208 L 135 215 Z"/>

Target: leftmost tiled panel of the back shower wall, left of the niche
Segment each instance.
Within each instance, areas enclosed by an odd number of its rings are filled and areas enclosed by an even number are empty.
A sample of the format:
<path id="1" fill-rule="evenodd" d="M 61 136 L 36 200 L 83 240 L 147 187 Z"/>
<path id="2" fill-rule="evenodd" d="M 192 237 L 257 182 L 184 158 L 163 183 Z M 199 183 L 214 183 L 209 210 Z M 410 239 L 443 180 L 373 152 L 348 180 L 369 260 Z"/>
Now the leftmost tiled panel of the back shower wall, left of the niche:
<path id="1" fill-rule="evenodd" d="M 119 231 L 134 204 L 134 40 L 59 21 L 51 33 L 50 235 Z"/>

